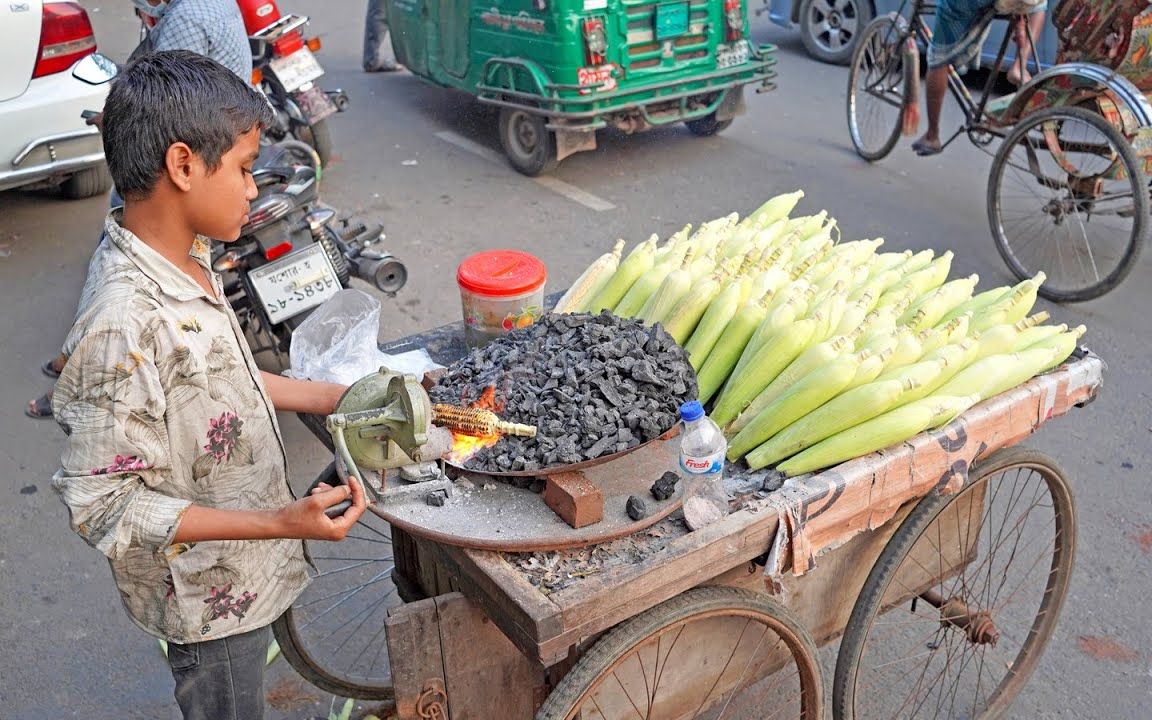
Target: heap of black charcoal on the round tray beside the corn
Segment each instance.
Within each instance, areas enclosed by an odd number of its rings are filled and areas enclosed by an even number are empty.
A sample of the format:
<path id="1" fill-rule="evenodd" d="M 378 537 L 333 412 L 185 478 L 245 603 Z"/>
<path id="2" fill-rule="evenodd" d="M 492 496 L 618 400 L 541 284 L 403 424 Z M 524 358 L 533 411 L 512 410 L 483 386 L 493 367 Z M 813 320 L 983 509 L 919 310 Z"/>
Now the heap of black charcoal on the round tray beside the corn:
<path id="1" fill-rule="evenodd" d="M 607 312 L 547 314 L 472 350 L 430 394 L 461 404 L 487 387 L 503 419 L 538 426 L 535 438 L 502 438 L 468 461 L 507 472 L 593 460 L 659 437 L 696 397 L 696 373 L 659 325 Z"/>

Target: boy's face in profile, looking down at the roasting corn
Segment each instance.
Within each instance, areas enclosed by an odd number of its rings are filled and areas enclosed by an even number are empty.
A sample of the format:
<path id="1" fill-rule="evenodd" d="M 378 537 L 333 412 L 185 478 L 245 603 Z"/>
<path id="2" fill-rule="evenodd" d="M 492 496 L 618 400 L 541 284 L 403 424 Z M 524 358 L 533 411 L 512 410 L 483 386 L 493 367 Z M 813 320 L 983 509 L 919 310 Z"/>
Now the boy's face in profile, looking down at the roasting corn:
<path id="1" fill-rule="evenodd" d="M 214 172 L 209 172 L 203 161 L 197 162 L 197 177 L 188 198 L 197 233 L 223 242 L 240 237 L 248 222 L 249 204 L 257 196 L 252 162 L 259 152 L 260 129 L 255 127 L 236 138 Z"/>

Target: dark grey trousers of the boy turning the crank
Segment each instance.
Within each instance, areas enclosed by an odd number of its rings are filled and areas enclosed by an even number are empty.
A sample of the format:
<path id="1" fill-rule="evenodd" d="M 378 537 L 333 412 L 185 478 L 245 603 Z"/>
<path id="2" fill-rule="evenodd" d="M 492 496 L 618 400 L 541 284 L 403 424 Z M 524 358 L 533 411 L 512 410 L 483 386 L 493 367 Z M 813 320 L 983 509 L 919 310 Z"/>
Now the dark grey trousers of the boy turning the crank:
<path id="1" fill-rule="evenodd" d="M 218 641 L 168 643 L 184 720 L 263 720 L 268 627 Z"/>

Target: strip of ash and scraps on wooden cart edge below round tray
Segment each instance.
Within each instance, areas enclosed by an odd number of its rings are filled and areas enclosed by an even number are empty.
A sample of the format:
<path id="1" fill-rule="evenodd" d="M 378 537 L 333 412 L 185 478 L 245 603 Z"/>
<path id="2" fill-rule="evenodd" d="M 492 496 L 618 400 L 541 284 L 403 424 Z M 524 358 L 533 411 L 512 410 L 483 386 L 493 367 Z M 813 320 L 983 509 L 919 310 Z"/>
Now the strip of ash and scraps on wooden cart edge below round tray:
<path id="1" fill-rule="evenodd" d="M 642 562 L 687 533 L 688 529 L 682 520 L 667 517 L 646 530 L 591 547 L 503 553 L 503 556 L 529 583 L 538 588 L 541 594 L 547 596 L 578 583 L 581 578 Z"/>

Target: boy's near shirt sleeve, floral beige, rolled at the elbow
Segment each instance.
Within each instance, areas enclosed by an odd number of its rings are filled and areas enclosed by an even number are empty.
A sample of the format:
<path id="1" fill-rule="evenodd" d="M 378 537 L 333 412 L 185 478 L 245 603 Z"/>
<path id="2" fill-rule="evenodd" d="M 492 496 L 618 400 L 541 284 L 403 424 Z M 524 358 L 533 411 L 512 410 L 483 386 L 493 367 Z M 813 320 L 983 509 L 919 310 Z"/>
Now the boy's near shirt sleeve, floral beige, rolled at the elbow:
<path id="1" fill-rule="evenodd" d="M 156 490 L 173 467 L 165 409 L 159 370 L 131 328 L 84 335 L 56 382 L 68 441 L 53 486 L 73 529 L 108 558 L 169 545 L 191 505 Z"/>

